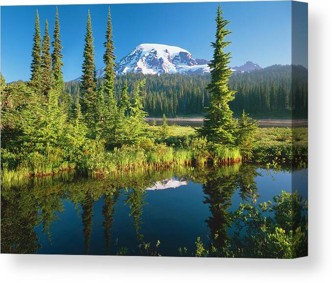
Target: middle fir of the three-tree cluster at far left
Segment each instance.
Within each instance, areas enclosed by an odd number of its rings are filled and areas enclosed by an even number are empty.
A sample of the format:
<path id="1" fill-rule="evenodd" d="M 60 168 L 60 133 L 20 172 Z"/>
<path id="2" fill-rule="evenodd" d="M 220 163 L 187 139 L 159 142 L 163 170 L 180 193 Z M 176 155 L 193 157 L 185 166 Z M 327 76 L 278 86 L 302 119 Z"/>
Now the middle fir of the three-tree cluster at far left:
<path id="1" fill-rule="evenodd" d="M 42 45 L 42 77 L 41 77 L 41 90 L 42 93 L 47 96 L 48 92 L 53 87 L 53 74 L 52 74 L 52 58 L 49 51 L 49 35 L 48 35 L 48 22 L 45 21 L 45 34 L 43 37 Z"/>

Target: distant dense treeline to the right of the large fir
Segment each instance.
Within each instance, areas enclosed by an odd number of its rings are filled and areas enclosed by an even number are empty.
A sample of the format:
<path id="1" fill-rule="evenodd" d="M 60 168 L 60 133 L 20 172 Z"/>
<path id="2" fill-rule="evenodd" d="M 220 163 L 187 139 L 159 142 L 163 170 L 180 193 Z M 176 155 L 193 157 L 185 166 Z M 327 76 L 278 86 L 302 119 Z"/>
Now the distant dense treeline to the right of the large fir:
<path id="1" fill-rule="evenodd" d="M 273 65 L 230 79 L 236 90 L 230 103 L 235 113 L 242 109 L 255 115 L 308 116 L 308 70 L 303 66 Z"/>

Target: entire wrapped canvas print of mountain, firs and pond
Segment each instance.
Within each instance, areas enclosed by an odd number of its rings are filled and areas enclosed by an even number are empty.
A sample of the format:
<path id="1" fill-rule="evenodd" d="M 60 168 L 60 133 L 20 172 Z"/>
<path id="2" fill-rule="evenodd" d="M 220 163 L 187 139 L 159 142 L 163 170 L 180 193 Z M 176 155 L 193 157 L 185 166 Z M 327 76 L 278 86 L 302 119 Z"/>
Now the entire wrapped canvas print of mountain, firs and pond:
<path id="1" fill-rule="evenodd" d="M 307 3 L 1 6 L 0 240 L 307 256 Z"/>

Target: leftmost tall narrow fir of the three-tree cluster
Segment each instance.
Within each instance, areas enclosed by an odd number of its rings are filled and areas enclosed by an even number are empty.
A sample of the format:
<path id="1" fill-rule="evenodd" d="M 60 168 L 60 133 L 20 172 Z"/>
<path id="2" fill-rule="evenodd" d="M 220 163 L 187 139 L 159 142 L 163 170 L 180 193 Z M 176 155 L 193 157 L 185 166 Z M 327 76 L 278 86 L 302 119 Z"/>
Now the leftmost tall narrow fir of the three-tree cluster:
<path id="1" fill-rule="evenodd" d="M 32 46 L 32 62 L 30 65 L 31 78 L 30 85 L 36 89 L 40 89 L 41 82 L 41 35 L 40 35 L 40 25 L 39 25 L 39 14 L 36 11 L 36 22 L 35 22 L 35 32 L 33 35 L 33 46 Z"/>

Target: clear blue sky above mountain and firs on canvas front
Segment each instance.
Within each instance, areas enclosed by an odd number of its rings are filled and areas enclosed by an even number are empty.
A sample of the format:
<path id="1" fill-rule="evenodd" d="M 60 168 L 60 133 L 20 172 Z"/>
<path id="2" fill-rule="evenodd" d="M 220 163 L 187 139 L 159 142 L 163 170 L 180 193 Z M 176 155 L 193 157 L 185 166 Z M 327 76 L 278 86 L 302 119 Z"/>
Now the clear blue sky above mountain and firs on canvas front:
<path id="1" fill-rule="evenodd" d="M 233 33 L 227 48 L 231 66 L 250 60 L 266 67 L 291 62 L 290 1 L 220 2 Z M 194 58 L 211 59 L 218 2 L 59 5 L 64 79 L 81 75 L 86 18 L 90 9 L 95 38 L 95 63 L 103 67 L 107 9 L 111 8 L 117 59 L 142 43 L 174 45 Z M 7 82 L 30 77 L 36 9 L 42 35 L 45 20 L 53 33 L 55 6 L 1 7 L 1 73 Z"/>

